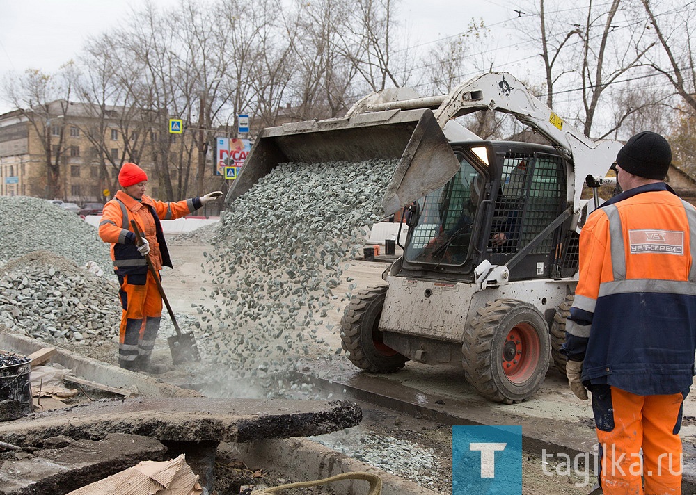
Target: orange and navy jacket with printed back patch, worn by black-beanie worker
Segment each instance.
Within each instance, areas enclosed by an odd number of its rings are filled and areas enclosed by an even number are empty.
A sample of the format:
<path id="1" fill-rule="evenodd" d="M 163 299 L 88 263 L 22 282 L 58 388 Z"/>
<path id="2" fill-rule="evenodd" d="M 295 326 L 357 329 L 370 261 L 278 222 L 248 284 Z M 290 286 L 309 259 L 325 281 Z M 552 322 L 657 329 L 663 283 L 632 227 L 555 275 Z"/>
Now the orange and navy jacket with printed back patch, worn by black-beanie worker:
<path id="1" fill-rule="evenodd" d="M 693 380 L 696 209 L 666 184 L 628 190 L 580 233 L 580 280 L 566 330 L 583 381 L 638 395 Z M 574 349 L 574 347 L 576 347 Z"/>

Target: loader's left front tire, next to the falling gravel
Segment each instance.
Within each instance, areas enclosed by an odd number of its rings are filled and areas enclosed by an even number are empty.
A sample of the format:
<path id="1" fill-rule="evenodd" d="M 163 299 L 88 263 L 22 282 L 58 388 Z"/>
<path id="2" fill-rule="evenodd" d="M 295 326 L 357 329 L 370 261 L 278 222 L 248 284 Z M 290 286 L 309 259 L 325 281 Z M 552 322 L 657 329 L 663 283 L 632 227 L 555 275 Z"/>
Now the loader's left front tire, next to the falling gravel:
<path id="1" fill-rule="evenodd" d="M 372 373 L 393 373 L 409 359 L 383 343 L 379 331 L 386 286 L 370 287 L 354 295 L 341 318 L 341 346 L 358 368 Z"/>

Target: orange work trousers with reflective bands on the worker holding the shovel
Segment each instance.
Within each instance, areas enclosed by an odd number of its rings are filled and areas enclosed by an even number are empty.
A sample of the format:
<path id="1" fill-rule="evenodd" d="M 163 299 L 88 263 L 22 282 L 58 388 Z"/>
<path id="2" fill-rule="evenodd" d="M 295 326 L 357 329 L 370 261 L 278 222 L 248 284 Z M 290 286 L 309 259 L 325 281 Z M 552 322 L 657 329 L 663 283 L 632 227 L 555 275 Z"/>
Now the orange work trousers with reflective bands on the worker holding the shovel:
<path id="1" fill-rule="evenodd" d="M 118 364 L 145 368 L 150 361 L 162 316 L 162 298 L 152 272 L 118 277 L 123 312 L 118 331 Z"/>

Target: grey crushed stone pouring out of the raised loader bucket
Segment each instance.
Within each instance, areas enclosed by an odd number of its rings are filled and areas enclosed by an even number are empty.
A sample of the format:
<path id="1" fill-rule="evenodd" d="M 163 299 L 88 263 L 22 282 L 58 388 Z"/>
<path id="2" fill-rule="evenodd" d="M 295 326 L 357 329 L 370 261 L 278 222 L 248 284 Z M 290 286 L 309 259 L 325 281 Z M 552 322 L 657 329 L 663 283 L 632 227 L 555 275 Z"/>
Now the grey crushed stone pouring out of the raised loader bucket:
<path id="1" fill-rule="evenodd" d="M 212 310 L 198 306 L 207 340 L 214 342 L 206 354 L 219 364 L 218 375 L 225 368 L 230 383 L 235 376 L 267 378 L 273 389 L 274 375 L 292 370 L 299 359 L 342 352 L 317 337 L 317 328 L 350 298 L 333 289 L 380 220 L 395 165 L 283 163 L 228 206 L 214 252 L 205 253 L 216 304 Z M 207 393 L 240 392 L 232 385 Z"/>

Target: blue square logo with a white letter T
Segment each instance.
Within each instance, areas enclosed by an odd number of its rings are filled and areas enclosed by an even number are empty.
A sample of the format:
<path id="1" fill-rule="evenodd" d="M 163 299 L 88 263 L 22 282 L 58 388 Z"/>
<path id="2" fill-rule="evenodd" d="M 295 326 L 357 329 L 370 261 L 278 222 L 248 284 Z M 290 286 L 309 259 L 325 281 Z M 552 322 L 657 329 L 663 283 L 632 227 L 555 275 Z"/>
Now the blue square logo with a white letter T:
<path id="1" fill-rule="evenodd" d="M 452 426 L 452 495 L 522 494 L 521 426 Z"/>

